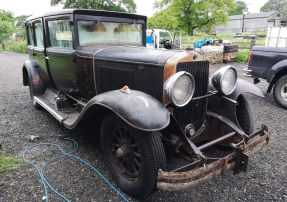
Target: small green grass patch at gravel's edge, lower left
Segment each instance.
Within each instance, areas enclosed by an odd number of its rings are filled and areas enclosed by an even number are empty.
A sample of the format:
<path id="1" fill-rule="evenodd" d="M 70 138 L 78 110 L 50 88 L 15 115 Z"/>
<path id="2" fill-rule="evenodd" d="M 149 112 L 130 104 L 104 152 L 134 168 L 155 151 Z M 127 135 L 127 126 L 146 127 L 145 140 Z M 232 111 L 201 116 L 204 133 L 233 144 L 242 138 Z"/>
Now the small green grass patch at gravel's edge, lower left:
<path id="1" fill-rule="evenodd" d="M 21 163 L 22 159 L 5 152 L 0 152 L 0 174 L 6 170 L 18 168 Z"/>

